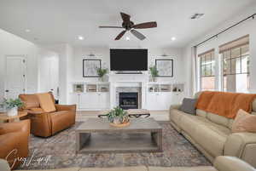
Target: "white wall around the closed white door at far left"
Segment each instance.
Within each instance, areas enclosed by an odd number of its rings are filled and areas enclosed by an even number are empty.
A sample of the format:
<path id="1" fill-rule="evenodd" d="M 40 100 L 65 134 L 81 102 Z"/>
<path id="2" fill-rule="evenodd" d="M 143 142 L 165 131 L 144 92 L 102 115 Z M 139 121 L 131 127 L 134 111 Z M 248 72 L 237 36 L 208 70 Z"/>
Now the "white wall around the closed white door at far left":
<path id="1" fill-rule="evenodd" d="M 26 92 L 34 93 L 38 89 L 38 48 L 7 31 L 0 29 L 0 101 L 4 96 L 4 77 L 7 55 L 26 56 Z"/>

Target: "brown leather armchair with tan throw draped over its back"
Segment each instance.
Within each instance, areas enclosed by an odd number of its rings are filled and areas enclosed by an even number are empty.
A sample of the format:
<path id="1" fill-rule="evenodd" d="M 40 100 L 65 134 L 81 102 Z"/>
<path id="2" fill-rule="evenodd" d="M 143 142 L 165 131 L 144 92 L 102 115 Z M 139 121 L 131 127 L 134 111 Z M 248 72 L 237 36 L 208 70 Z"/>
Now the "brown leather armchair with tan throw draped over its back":
<path id="1" fill-rule="evenodd" d="M 76 105 L 55 105 L 56 111 L 45 112 L 40 108 L 35 94 L 20 94 L 19 97 L 24 103 L 22 110 L 27 111 L 31 119 L 31 132 L 34 135 L 49 137 L 75 124 Z M 53 95 L 52 100 L 55 101 Z"/>

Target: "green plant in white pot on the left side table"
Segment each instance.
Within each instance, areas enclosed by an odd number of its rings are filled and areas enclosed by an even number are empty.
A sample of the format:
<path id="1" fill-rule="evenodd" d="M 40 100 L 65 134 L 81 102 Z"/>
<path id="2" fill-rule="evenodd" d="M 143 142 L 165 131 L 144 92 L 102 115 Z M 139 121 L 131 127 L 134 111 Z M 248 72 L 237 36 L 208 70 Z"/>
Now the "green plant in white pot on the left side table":
<path id="1" fill-rule="evenodd" d="M 5 106 L 7 110 L 7 115 L 8 116 L 17 116 L 18 115 L 18 108 L 23 105 L 22 101 L 18 99 L 9 99 L 9 100 L 4 100 L 3 105 Z"/>

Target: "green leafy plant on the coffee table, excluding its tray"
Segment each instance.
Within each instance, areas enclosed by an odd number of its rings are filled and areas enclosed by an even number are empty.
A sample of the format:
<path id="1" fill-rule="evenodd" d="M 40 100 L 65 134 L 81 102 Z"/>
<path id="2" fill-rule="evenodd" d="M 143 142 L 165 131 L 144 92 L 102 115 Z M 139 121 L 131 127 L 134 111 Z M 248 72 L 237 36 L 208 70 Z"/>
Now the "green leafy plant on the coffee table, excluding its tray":
<path id="1" fill-rule="evenodd" d="M 107 114 L 110 123 L 127 123 L 129 122 L 127 111 L 120 107 L 115 107 Z"/>

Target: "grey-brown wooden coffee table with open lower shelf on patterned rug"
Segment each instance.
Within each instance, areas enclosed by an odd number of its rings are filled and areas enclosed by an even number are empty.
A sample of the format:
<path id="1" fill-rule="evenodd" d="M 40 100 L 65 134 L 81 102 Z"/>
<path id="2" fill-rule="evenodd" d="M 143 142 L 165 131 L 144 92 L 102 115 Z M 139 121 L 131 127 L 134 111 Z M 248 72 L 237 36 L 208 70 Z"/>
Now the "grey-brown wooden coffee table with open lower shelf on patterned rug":
<path id="1" fill-rule="evenodd" d="M 110 126 L 107 119 L 90 118 L 75 132 L 79 153 L 162 151 L 162 128 L 151 117 L 131 119 L 123 128 Z"/>

